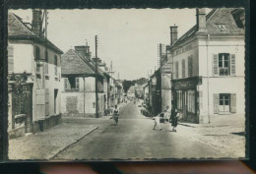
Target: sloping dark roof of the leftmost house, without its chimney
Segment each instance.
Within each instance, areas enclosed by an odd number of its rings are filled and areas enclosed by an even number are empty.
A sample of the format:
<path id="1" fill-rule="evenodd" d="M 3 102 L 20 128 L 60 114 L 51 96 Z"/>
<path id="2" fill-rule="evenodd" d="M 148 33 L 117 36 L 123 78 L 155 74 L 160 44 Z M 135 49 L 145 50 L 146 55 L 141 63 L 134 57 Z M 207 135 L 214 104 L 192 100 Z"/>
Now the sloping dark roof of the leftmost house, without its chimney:
<path id="1" fill-rule="evenodd" d="M 45 43 L 45 37 L 36 35 L 32 29 L 30 29 L 23 21 L 22 19 L 13 14 L 8 13 L 8 38 L 10 39 L 35 39 L 38 42 Z M 60 54 L 63 54 L 63 52 L 55 46 L 51 41 L 46 39 L 47 45 L 57 51 Z"/>

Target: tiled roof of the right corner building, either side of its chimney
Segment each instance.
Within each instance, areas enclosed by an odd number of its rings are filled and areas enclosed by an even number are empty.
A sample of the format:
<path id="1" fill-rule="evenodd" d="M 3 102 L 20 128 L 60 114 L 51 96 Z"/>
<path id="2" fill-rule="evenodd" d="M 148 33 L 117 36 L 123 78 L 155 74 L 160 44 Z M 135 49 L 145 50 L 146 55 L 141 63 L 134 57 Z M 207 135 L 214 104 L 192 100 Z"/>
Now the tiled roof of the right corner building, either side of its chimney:
<path id="1" fill-rule="evenodd" d="M 233 34 L 243 34 L 244 29 L 240 29 L 237 27 L 233 16 L 231 14 L 231 11 L 233 9 L 227 9 L 227 8 L 220 8 L 220 9 L 214 9 L 206 16 L 206 28 L 207 33 L 210 34 L 226 34 L 226 33 L 233 33 Z M 226 30 L 220 30 L 217 29 L 216 24 L 224 24 Z M 197 25 L 189 29 L 187 32 L 185 32 L 181 37 L 179 37 L 172 45 L 176 46 L 183 41 L 191 38 L 194 36 L 194 34 L 197 32 Z"/>

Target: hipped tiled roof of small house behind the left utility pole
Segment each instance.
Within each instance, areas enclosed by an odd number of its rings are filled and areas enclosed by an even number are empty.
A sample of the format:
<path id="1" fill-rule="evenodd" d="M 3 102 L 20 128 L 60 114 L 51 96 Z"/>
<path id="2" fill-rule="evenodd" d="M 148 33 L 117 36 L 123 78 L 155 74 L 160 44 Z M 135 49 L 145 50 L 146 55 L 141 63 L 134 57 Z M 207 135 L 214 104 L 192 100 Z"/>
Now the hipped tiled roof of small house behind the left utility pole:
<path id="1" fill-rule="evenodd" d="M 95 71 L 81 58 L 73 49 L 69 49 L 62 55 L 61 60 L 62 75 L 95 75 Z"/>

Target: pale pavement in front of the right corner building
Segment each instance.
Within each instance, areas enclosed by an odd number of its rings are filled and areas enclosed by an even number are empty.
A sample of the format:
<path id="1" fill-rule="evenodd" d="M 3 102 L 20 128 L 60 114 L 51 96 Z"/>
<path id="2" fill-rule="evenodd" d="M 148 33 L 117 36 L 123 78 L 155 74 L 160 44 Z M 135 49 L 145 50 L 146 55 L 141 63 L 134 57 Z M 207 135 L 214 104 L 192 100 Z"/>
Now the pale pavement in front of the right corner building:
<path id="1" fill-rule="evenodd" d="M 210 124 L 179 123 L 177 130 L 186 130 L 191 138 L 211 145 L 234 158 L 245 156 L 244 116 L 216 116 Z"/>

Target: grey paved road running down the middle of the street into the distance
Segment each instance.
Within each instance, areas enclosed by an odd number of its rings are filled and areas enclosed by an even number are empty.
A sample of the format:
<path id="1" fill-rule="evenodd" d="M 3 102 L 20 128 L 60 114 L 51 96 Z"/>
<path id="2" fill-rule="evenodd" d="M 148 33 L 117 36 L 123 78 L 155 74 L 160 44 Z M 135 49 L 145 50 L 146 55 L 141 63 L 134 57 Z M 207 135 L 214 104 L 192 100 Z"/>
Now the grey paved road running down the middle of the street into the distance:
<path id="1" fill-rule="evenodd" d="M 169 124 L 162 131 L 153 130 L 154 121 L 140 114 L 138 103 L 120 109 L 119 123 L 112 119 L 85 120 L 78 124 L 97 124 L 98 129 L 75 145 L 56 155 L 55 159 L 164 159 L 191 157 L 225 157 L 221 151 L 192 139 L 182 126 L 177 133 Z"/>

